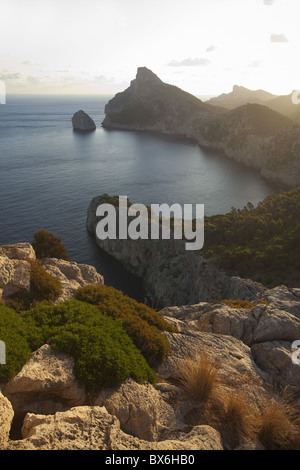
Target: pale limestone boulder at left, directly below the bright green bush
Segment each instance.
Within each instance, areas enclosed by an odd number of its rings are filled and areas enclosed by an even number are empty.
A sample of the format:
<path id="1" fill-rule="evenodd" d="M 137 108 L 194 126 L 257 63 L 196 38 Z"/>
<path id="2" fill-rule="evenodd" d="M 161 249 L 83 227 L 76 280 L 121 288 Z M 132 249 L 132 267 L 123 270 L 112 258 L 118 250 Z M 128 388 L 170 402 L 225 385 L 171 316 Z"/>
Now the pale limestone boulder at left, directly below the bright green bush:
<path id="1" fill-rule="evenodd" d="M 86 399 L 75 378 L 74 359 L 47 344 L 32 353 L 3 391 L 16 411 L 26 412 L 53 413 L 62 405 L 81 405 Z"/>

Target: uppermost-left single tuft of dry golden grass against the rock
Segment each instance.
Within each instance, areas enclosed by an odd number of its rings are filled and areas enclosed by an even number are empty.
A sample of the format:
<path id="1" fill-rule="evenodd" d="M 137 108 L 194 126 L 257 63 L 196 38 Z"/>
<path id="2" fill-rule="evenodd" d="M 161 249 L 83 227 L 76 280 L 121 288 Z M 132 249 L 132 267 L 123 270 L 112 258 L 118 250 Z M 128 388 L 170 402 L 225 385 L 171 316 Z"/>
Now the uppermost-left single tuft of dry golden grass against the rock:
<path id="1" fill-rule="evenodd" d="M 218 386 L 220 366 L 206 353 L 186 358 L 179 364 L 178 381 L 194 400 L 207 401 Z"/>

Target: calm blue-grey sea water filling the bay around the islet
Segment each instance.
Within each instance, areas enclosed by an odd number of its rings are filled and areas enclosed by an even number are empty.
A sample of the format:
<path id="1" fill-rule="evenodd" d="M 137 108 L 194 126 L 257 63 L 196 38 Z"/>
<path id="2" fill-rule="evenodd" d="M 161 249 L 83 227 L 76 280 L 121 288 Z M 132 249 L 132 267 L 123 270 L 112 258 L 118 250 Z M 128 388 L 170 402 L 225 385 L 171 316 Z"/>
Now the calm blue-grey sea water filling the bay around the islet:
<path id="1" fill-rule="evenodd" d="M 255 172 L 214 152 L 135 132 L 100 127 L 107 96 L 10 96 L 0 105 L 0 244 L 32 241 L 44 227 L 71 258 L 105 282 L 139 295 L 128 273 L 85 229 L 90 200 L 103 193 L 134 202 L 204 204 L 205 215 L 256 205 L 275 191 Z M 79 109 L 97 130 L 73 132 Z"/>

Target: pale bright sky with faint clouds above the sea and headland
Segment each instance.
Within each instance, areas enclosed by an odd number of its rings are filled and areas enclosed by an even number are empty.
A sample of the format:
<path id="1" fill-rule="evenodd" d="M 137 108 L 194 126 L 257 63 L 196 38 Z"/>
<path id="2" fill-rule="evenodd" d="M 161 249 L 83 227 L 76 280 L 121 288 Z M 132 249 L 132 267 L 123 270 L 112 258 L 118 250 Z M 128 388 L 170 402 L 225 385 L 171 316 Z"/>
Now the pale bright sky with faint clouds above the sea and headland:
<path id="1" fill-rule="evenodd" d="M 200 97 L 300 88 L 299 0 L 0 0 L 0 12 L 8 94 L 115 94 L 142 66 Z"/>

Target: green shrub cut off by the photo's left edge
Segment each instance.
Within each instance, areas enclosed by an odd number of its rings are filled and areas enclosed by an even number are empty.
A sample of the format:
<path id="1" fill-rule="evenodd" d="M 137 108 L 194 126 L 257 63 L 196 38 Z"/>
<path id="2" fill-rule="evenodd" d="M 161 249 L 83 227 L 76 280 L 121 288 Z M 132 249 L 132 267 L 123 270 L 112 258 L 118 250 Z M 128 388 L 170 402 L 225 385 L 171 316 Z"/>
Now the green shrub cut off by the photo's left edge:
<path id="1" fill-rule="evenodd" d="M 6 364 L 0 364 L 0 383 L 8 382 L 28 361 L 31 353 L 26 338 L 28 328 L 20 315 L 0 304 L 0 340 L 6 347 Z"/>

